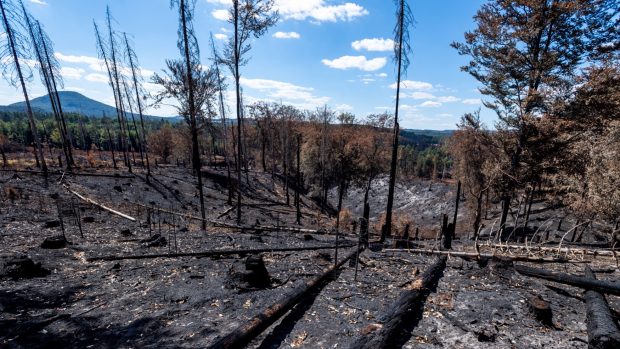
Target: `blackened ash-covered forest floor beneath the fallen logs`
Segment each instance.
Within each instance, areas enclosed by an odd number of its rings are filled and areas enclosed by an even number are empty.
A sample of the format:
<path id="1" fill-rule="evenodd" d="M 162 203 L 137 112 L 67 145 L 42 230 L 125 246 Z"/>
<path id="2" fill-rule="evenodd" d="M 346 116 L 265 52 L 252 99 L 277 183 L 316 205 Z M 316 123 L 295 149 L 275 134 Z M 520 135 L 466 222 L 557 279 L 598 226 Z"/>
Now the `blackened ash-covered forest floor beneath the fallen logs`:
<path id="1" fill-rule="evenodd" d="M 334 264 L 333 249 L 262 253 L 270 279 L 268 285 L 256 288 L 240 278 L 246 272 L 246 255 L 89 261 L 101 256 L 335 243 L 331 234 L 334 217 L 321 214 L 319 205 L 305 196 L 301 226 L 320 232 L 239 231 L 212 224 L 203 232 L 196 220 L 157 211 L 150 212 L 149 228 L 149 211 L 144 206 L 199 216 L 195 178 L 187 169 L 177 167 L 159 167 L 151 184 L 143 175 L 107 172 L 127 178 L 67 174 L 63 182 L 85 197 L 135 217 L 136 222 L 76 198 L 58 182 L 60 175 L 45 180 L 27 173 L 0 174 L 0 346 L 208 347 Z M 207 218 L 234 224 L 235 211 L 227 204 L 225 172 L 209 173 L 205 181 Z M 248 174 L 248 182 L 250 185 L 244 187 L 245 226 L 296 226 L 294 207 L 286 205 L 281 182 L 253 172 Z M 378 221 L 387 189 L 381 180 L 376 183 L 371 213 Z M 433 184 L 431 191 L 428 188 L 428 182 L 399 184 L 396 210 L 420 226 L 438 228 L 441 215 L 453 210 L 455 188 L 441 183 Z M 353 216 L 361 214 L 361 199 L 363 191 L 359 189 L 353 188 L 347 195 L 345 207 Z M 535 227 L 551 216 L 559 216 L 557 210 L 546 207 L 542 201 L 535 204 Z M 46 238 L 61 234 L 59 210 L 70 244 L 59 249 L 42 248 Z M 465 211 L 461 212 L 464 215 Z M 491 218 L 485 221 L 488 226 L 495 213 L 492 210 Z M 78 216 L 84 237 L 79 232 Z M 570 228 L 571 219 L 566 217 L 568 223 L 564 225 Z M 555 225 L 550 231 L 552 243 L 569 229 L 558 230 Z M 455 248 L 471 244 L 465 238 L 466 224 L 457 230 L 461 238 Z M 154 240 L 156 234 L 166 243 Z M 377 237 L 376 232 L 371 236 Z M 343 229 L 340 240 L 357 243 L 350 227 Z M 433 240 L 415 244 L 435 246 Z M 248 347 L 341 348 L 379 330 L 378 324 L 390 305 L 436 258 L 384 250 L 391 246 L 391 241 L 371 244 L 371 249 L 360 255 L 357 278 L 355 263 L 345 263 Z M 340 249 L 340 258 L 353 250 Z M 16 270 L 11 264 L 15 260 L 31 260 L 33 264 Z M 601 257 L 592 264 L 599 279 L 614 280 L 620 275 L 612 259 Z M 583 273 L 583 264 L 579 263 L 545 267 Z M 551 305 L 551 324 L 541 323 L 530 313 L 531 297 L 540 297 Z M 617 315 L 618 297 L 608 300 Z M 519 275 L 509 265 L 451 257 L 442 277 L 419 306 L 417 316 L 402 333 L 402 347 L 587 347 L 583 291 Z"/>

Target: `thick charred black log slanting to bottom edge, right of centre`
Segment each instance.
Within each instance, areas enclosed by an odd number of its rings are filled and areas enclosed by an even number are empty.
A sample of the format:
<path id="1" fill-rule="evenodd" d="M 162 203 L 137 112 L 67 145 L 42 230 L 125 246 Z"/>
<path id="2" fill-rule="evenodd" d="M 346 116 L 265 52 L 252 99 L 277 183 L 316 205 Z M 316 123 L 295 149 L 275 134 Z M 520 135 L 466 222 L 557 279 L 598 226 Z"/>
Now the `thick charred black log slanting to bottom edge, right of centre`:
<path id="1" fill-rule="evenodd" d="M 392 305 L 385 316 L 385 320 L 377 326 L 377 330 L 360 337 L 352 349 L 378 349 L 400 347 L 403 343 L 403 332 L 409 332 L 407 327 L 415 324 L 415 316 L 419 315 L 419 308 L 423 304 L 430 289 L 437 283 L 446 267 L 446 256 L 440 256 L 424 273 L 413 282 L 410 289 L 403 292 Z M 405 339 L 406 340 L 406 339 Z M 400 344 L 400 345 L 399 345 Z"/>

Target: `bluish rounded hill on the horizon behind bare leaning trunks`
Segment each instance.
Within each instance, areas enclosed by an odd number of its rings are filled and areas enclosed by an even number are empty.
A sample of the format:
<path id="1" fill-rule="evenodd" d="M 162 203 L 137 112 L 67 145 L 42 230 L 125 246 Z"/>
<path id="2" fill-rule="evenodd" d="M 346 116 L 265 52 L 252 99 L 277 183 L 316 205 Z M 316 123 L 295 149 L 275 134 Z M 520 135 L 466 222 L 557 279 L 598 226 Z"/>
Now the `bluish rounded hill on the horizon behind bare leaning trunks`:
<path id="1" fill-rule="evenodd" d="M 81 93 L 73 91 L 61 91 L 60 102 L 62 103 L 62 110 L 65 113 L 77 113 L 86 115 L 92 118 L 100 118 L 105 113 L 109 117 L 116 116 L 116 108 L 107 104 L 98 102 L 94 99 L 88 98 Z M 52 105 L 48 95 L 37 97 L 30 100 L 30 105 L 35 111 L 43 113 L 51 113 Z M 7 106 L 0 106 L 0 112 L 23 112 L 26 109 L 26 102 L 13 103 Z M 136 114 L 137 116 L 137 114 Z M 147 119 L 159 120 L 162 117 L 145 115 Z M 179 118 L 172 117 L 167 118 L 170 121 L 178 121 Z"/>

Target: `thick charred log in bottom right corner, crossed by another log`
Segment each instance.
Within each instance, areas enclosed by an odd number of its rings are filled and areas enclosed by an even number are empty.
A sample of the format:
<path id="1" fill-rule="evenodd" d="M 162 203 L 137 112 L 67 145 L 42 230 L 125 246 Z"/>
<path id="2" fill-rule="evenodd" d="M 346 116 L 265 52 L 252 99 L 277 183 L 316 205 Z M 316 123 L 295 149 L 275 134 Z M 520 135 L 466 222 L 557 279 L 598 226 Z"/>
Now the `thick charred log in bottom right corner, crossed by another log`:
<path id="1" fill-rule="evenodd" d="M 590 280 L 596 280 L 596 276 L 589 266 L 585 268 L 585 276 Z M 585 292 L 585 299 L 588 348 L 620 348 L 620 331 L 611 315 L 605 296 L 594 290 L 587 290 Z"/>

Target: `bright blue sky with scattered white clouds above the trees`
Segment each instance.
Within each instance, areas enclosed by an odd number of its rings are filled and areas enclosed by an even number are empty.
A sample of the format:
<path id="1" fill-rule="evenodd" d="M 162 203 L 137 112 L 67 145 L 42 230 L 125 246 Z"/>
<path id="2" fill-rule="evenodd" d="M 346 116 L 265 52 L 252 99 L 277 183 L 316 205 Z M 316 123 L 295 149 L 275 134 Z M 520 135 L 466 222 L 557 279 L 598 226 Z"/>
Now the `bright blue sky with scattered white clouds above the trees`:
<path id="1" fill-rule="evenodd" d="M 113 105 L 97 59 L 93 19 L 103 24 L 110 5 L 115 26 L 135 45 L 145 80 L 179 56 L 176 12 L 168 0 L 24 0 L 55 43 L 65 90 Z M 401 127 L 454 129 L 460 115 L 481 107 L 478 83 L 459 67 L 467 62 L 449 45 L 474 27 L 483 0 L 412 1 L 416 18 L 413 57 L 403 83 Z M 230 0 L 198 0 L 195 29 L 203 64 L 210 63 L 209 33 L 221 45 L 231 25 L 222 20 Z M 269 100 L 314 110 L 325 104 L 363 118 L 394 111 L 395 66 L 391 42 L 395 5 L 390 0 L 276 0 L 281 20 L 252 42 L 242 68 L 246 104 Z M 33 96 L 44 94 L 35 76 Z M 229 85 L 232 81 L 229 80 Z M 146 85 L 148 90 L 157 86 Z M 232 86 L 231 86 L 232 87 Z M 0 83 L 0 104 L 21 100 L 20 91 Z M 227 94 L 233 103 L 232 93 Z M 171 106 L 149 114 L 173 115 Z M 482 112 L 492 124 L 494 114 Z"/>

